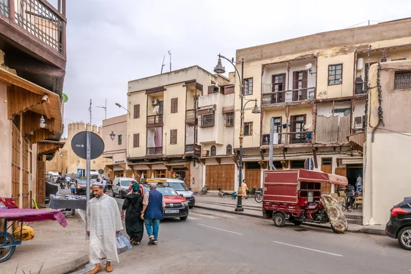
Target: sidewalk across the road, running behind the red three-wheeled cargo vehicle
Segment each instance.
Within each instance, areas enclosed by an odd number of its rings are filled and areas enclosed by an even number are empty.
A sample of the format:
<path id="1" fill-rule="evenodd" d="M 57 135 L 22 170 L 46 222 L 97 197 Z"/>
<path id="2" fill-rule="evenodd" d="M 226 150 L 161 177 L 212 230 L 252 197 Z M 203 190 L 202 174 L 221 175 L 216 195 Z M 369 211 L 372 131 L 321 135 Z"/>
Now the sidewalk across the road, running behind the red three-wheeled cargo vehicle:
<path id="1" fill-rule="evenodd" d="M 243 216 L 250 216 L 256 218 L 262 218 L 262 203 L 257 203 L 253 198 L 242 199 L 243 212 L 235 212 L 237 199 L 232 197 L 216 197 L 208 195 L 196 195 L 195 208 L 202 208 L 204 210 L 214 210 L 224 213 L 239 214 Z M 329 224 L 317 224 L 317 223 L 303 223 L 312 227 L 324 227 L 331 229 Z M 368 234 L 385 235 L 384 225 L 355 225 L 349 223 L 349 232 L 362 232 Z"/>

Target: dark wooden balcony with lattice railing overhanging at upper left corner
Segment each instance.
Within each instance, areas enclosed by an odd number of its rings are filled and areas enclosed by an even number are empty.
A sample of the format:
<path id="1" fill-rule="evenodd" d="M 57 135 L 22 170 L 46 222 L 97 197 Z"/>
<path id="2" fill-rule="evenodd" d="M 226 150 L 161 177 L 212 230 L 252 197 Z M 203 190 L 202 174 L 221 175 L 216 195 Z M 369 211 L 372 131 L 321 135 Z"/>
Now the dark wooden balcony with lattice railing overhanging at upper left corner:
<path id="1" fill-rule="evenodd" d="M 1 40 L 38 60 L 66 67 L 65 0 L 0 0 Z"/>

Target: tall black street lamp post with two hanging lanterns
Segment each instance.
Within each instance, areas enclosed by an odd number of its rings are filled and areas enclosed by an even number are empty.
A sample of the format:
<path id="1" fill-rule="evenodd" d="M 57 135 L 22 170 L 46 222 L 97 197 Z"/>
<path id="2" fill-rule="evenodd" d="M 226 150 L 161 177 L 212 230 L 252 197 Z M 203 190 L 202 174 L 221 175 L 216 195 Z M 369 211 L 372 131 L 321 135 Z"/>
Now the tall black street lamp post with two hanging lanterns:
<path id="1" fill-rule="evenodd" d="M 225 67 L 223 66 L 223 64 L 221 64 L 221 58 L 224 58 L 225 60 L 230 62 L 234 66 L 234 69 L 236 69 L 237 75 L 240 75 L 240 73 L 238 73 L 236 64 L 234 62 L 234 58 L 232 58 L 232 60 L 229 60 L 221 54 L 219 54 L 219 62 L 217 63 L 217 65 L 214 68 L 215 73 L 225 73 Z M 239 159 L 238 159 L 238 173 L 239 173 L 238 174 L 238 188 L 241 187 L 241 183 L 242 183 L 242 139 L 244 138 L 243 124 L 244 124 L 245 106 L 250 101 L 254 101 L 254 102 L 256 102 L 256 104 L 254 105 L 254 109 L 252 110 L 252 113 L 260 113 L 260 110 L 258 110 L 257 99 L 247 100 L 244 104 L 244 58 L 241 60 L 241 78 L 240 78 L 240 82 L 241 82 L 241 85 L 240 85 L 240 103 L 241 103 L 240 110 L 241 111 L 240 111 L 240 155 L 239 155 Z M 241 199 L 240 195 L 237 196 L 237 206 L 236 206 L 235 211 L 236 212 L 244 211 L 244 208 L 242 208 L 242 199 Z"/>

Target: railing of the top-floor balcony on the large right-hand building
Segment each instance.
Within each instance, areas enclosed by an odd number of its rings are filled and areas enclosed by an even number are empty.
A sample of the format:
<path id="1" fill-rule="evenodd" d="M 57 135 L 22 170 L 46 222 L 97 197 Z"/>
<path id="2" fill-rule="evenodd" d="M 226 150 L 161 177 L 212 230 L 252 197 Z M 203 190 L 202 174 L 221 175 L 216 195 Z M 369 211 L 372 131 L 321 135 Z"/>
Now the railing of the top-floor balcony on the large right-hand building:
<path id="1" fill-rule="evenodd" d="M 300 88 L 297 90 L 284 90 L 263 93 L 262 105 L 273 105 L 275 103 L 288 103 L 298 101 L 314 100 L 315 88 Z"/>

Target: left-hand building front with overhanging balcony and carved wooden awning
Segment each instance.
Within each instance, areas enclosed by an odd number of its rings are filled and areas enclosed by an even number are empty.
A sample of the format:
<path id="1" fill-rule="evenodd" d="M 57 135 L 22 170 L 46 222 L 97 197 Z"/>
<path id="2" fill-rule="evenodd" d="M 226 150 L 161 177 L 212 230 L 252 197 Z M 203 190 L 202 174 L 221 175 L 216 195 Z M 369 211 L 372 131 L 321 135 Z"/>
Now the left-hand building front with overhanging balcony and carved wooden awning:
<path id="1" fill-rule="evenodd" d="M 66 4 L 0 5 L 0 196 L 45 202 L 45 160 L 62 147 Z"/>

